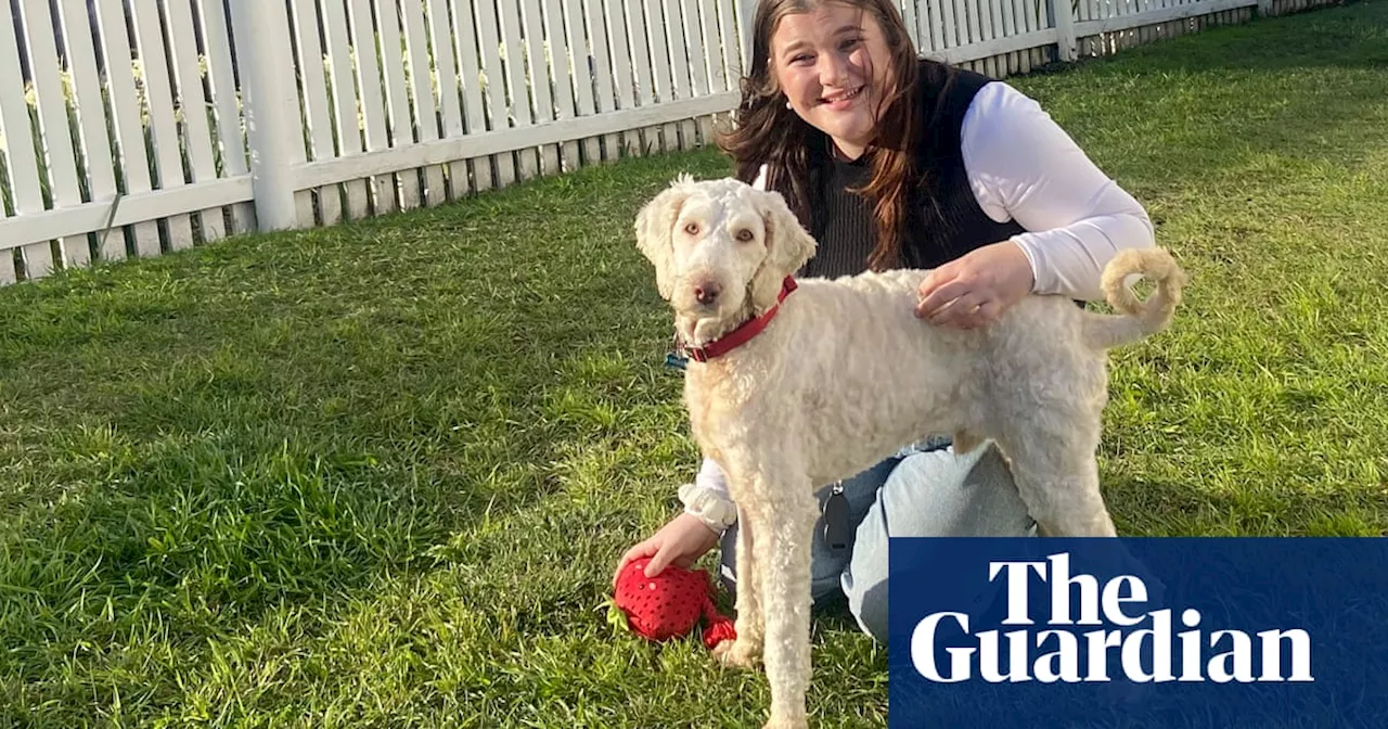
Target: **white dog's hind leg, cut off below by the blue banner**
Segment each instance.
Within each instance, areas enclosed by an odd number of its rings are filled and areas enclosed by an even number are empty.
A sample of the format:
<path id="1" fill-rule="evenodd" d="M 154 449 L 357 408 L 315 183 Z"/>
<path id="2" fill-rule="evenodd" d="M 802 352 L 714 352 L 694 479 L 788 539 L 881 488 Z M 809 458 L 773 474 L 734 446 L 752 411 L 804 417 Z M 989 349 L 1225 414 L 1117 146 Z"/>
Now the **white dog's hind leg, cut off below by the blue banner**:
<path id="1" fill-rule="evenodd" d="M 1016 418 L 998 444 L 1008 454 L 1012 478 L 1031 518 L 1047 536 L 1117 536 L 1099 490 L 1098 426 L 1078 408 L 1053 404 Z"/>

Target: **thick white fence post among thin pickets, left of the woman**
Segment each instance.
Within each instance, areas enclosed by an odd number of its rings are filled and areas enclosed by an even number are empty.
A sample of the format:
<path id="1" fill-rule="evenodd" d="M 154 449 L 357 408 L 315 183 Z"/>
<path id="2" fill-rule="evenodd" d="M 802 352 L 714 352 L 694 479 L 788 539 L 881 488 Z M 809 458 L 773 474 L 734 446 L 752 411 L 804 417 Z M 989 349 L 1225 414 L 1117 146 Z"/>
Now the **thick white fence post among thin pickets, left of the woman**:
<path id="1" fill-rule="evenodd" d="M 257 228 L 294 228 L 298 217 L 291 164 L 296 139 L 303 156 L 303 124 L 289 44 L 289 14 L 279 0 L 230 0 L 230 8 Z"/>

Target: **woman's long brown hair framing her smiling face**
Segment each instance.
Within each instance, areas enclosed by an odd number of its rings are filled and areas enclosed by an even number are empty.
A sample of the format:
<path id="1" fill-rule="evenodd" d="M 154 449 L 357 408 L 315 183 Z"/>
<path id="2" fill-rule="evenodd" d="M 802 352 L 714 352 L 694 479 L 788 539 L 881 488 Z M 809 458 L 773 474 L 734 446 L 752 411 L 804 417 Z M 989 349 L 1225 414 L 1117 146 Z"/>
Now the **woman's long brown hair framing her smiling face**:
<path id="1" fill-rule="evenodd" d="M 870 154 L 872 179 L 862 189 L 873 204 L 877 247 L 867 258 L 874 271 L 901 262 L 901 240 L 908 228 L 911 189 L 919 183 L 912 143 L 919 133 L 916 78 L 920 60 L 901 12 L 890 0 L 761 0 L 752 19 L 751 68 L 741 82 L 743 101 L 734 126 L 719 137 L 719 147 L 733 157 L 736 175 L 752 182 L 762 164 L 769 165 L 766 187 L 780 192 L 806 228 L 809 212 L 809 150 L 824 140 L 823 132 L 799 118 L 786 103 L 772 71 L 772 35 L 781 18 L 838 3 L 873 15 L 891 50 L 895 89 L 880 103 L 877 136 Z"/>

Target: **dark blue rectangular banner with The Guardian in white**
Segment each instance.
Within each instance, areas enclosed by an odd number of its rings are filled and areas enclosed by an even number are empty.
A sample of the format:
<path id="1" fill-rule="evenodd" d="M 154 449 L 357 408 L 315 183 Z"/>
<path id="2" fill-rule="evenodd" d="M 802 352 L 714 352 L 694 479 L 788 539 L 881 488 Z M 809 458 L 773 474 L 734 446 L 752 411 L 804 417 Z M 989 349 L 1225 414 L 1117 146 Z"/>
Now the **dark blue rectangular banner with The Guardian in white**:
<path id="1" fill-rule="evenodd" d="M 888 726 L 1388 726 L 1385 539 L 892 539 Z"/>

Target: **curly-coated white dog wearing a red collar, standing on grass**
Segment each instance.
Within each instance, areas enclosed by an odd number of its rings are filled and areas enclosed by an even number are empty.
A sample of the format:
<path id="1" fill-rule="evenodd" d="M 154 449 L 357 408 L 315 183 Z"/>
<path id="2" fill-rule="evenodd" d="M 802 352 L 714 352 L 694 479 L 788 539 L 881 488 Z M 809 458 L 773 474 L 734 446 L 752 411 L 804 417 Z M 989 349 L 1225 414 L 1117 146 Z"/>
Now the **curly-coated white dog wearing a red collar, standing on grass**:
<path id="1" fill-rule="evenodd" d="M 959 453 L 997 443 L 1042 533 L 1115 535 L 1095 462 L 1105 350 L 1170 322 L 1185 276 L 1166 251 L 1128 250 L 1106 268 L 1120 315 L 1029 296 L 958 330 L 915 317 L 924 271 L 795 286 L 813 239 L 779 193 L 734 179 L 680 176 L 641 208 L 636 233 L 693 354 L 691 432 L 738 507 L 737 640 L 719 660 L 752 665 L 765 647 L 766 726 L 806 726 L 816 489 L 952 433 Z M 1145 304 L 1130 275 L 1156 282 Z"/>

